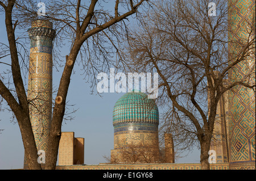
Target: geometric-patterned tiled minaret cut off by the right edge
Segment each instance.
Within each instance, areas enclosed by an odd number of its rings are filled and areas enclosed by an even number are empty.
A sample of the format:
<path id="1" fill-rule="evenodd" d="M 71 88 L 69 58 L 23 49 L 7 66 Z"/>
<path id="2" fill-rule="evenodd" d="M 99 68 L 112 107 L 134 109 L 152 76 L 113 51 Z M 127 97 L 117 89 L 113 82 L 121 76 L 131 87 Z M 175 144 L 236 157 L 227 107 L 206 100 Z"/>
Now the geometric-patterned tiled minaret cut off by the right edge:
<path id="1" fill-rule="evenodd" d="M 241 44 L 253 37 L 249 35 L 255 18 L 255 0 L 229 0 L 229 59 L 235 60 Z M 255 20 L 255 19 L 254 19 Z M 255 22 L 254 22 L 255 23 Z M 255 24 L 254 24 L 255 26 Z M 254 35 L 255 36 L 255 35 Z M 255 44 L 254 44 L 255 46 Z M 246 61 L 240 62 L 229 72 L 230 81 L 244 80 L 254 66 L 255 52 Z M 254 81 L 255 77 L 251 77 Z M 255 169 L 255 93 L 244 86 L 229 91 L 230 169 Z"/>

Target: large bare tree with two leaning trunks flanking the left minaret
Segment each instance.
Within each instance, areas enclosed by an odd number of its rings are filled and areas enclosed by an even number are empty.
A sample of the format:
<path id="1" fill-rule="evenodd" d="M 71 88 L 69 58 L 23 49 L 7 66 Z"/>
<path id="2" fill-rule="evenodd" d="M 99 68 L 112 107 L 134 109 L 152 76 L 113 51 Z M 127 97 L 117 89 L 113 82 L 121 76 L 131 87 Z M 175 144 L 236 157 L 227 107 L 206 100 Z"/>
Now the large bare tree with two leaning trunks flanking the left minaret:
<path id="1" fill-rule="evenodd" d="M 88 77 L 90 77 L 90 73 L 95 73 L 94 71 L 98 68 L 108 67 L 110 65 L 110 62 L 108 62 L 111 55 L 110 50 L 114 40 L 118 38 L 118 31 L 125 29 L 124 20 L 128 16 L 135 14 L 144 1 L 146 0 L 116 0 L 110 6 L 112 11 L 108 7 L 104 9 L 105 1 L 92 0 L 82 3 L 80 0 L 67 0 L 49 2 L 47 14 L 43 18 L 52 20 L 56 27 L 56 48 L 60 48 L 64 44 L 64 40 L 69 40 L 70 51 L 68 53 L 65 52 L 65 55 L 62 56 L 65 59 L 61 60 L 60 52 L 55 49 L 55 68 L 64 69 L 53 108 L 46 169 L 55 169 L 56 166 L 61 123 L 65 114 L 71 74 L 74 71 L 77 57 L 81 58 L 83 69 Z M 10 66 L 11 79 L 13 79 L 14 85 L 12 89 L 9 89 L 10 82 L 6 83 L 1 79 L 0 94 L 6 100 L 18 121 L 29 168 L 41 169 L 37 162 L 37 149 L 31 128 L 28 100 L 24 87 L 25 80 L 24 76 L 22 76 L 22 73 L 26 74 L 28 71 L 28 64 L 25 61 L 27 57 L 23 58 L 24 54 L 19 50 L 20 47 L 23 50 L 26 49 L 22 43 L 24 37 L 27 36 L 24 31 L 26 32 L 31 20 L 39 18 L 37 14 L 38 7 L 34 1 L 10 0 L 0 1 L 0 10 L 5 14 L 5 26 L 9 42 L 9 45 L 2 47 L 7 50 L 6 53 L 0 54 L 0 56 L 1 60 L 3 60 L 2 58 L 11 58 L 11 62 L 1 61 L 0 64 Z M 115 26 L 116 24 L 118 26 Z M 18 37 L 16 28 L 19 29 Z"/>

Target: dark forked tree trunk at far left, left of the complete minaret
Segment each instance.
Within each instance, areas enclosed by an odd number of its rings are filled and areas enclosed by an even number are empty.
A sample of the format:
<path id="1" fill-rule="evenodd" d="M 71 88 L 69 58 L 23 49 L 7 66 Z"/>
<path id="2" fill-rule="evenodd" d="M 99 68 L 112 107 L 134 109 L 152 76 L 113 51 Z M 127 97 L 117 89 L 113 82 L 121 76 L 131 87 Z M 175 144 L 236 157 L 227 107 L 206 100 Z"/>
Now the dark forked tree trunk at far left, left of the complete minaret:
<path id="1" fill-rule="evenodd" d="M 11 71 L 13 74 L 13 82 L 18 96 L 18 102 L 15 100 L 14 96 L 7 89 L 3 83 L 0 83 L 0 90 L 3 91 L 3 98 L 9 104 L 11 110 L 18 121 L 20 133 L 22 134 L 22 141 L 24 145 L 25 154 L 27 157 L 27 164 L 30 169 L 41 169 L 38 163 L 38 150 L 35 144 L 34 133 L 32 131 L 30 116 L 28 110 L 28 102 L 26 91 L 24 89 L 24 84 L 22 81 L 22 75 L 20 73 L 18 50 L 16 47 L 15 39 L 15 25 L 13 24 L 13 7 L 15 1 L 8 1 L 7 6 L 1 5 L 5 9 L 5 26 L 6 33 L 8 37 L 10 55 L 11 55 Z"/>

